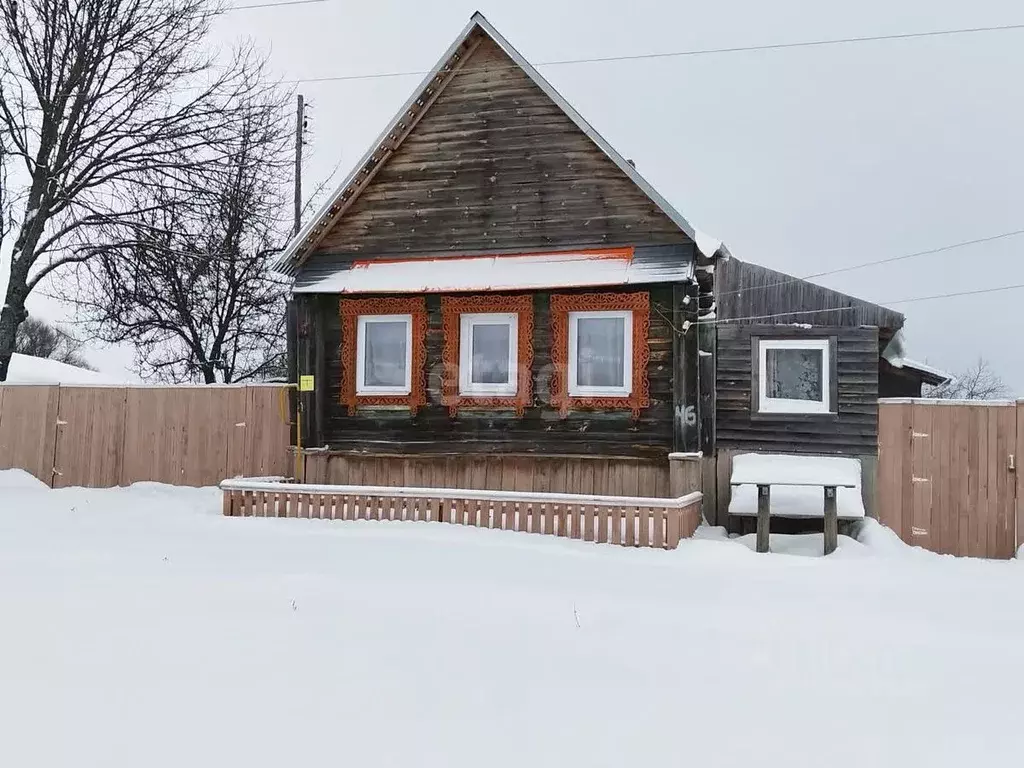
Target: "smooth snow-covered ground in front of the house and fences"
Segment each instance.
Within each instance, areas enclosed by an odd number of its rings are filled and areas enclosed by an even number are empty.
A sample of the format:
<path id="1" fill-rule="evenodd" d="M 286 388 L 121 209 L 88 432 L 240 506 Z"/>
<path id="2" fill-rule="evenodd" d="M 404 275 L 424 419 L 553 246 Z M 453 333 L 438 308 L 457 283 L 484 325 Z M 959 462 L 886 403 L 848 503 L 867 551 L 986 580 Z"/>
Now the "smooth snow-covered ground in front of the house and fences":
<path id="1" fill-rule="evenodd" d="M 1024 565 L 224 518 L 0 472 L 0 765 L 1006 766 Z M 820 538 L 773 538 L 810 555 Z M 746 546 L 744 546 L 746 545 Z"/>

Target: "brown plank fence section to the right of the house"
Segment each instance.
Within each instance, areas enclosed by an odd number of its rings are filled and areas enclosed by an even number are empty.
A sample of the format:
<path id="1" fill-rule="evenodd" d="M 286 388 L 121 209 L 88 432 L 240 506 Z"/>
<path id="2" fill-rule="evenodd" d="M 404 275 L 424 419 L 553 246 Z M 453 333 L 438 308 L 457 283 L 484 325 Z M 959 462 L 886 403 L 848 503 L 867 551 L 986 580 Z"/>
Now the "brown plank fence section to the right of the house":
<path id="1" fill-rule="evenodd" d="M 882 400 L 879 519 L 907 544 L 1009 558 L 1024 544 L 1024 400 Z"/>

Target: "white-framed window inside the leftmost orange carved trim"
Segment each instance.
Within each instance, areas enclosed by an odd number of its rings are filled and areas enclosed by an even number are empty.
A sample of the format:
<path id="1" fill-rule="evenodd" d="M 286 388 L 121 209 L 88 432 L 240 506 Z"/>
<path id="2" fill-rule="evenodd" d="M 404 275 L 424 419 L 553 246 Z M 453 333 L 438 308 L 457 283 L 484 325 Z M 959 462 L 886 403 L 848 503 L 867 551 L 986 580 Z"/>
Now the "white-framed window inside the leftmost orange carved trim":
<path id="1" fill-rule="evenodd" d="M 360 314 L 355 347 L 356 394 L 409 394 L 413 315 Z"/>

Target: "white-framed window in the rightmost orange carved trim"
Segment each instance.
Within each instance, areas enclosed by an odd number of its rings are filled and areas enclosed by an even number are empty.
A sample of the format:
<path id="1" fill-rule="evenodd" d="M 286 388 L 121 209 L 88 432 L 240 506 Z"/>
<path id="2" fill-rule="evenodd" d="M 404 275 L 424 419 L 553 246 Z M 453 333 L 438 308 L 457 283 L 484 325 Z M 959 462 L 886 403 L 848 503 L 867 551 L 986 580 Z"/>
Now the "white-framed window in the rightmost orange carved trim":
<path id="1" fill-rule="evenodd" d="M 633 312 L 569 312 L 568 390 L 627 397 L 633 391 Z"/>

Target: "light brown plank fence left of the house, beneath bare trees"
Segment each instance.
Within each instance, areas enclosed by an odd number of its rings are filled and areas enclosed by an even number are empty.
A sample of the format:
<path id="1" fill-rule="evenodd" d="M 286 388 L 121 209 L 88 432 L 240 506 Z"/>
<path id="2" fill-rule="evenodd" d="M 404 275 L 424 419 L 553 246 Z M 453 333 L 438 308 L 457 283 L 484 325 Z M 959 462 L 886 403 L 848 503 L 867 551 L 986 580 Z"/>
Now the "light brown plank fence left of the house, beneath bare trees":
<path id="1" fill-rule="evenodd" d="M 293 473 L 282 385 L 0 386 L 0 469 L 52 487 Z"/>

